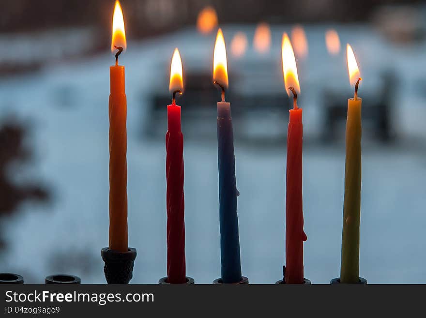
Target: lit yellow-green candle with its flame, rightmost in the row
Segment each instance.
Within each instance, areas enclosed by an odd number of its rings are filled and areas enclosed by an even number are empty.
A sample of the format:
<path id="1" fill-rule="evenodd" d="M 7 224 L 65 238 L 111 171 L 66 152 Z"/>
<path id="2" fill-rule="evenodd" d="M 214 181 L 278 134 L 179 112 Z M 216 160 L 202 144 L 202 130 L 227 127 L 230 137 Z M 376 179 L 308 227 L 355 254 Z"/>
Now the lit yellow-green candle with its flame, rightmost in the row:
<path id="1" fill-rule="evenodd" d="M 340 282 L 357 284 L 359 281 L 359 239 L 361 210 L 361 105 L 358 85 L 361 80 L 352 48 L 347 45 L 350 84 L 355 85 L 355 96 L 348 100 L 346 121 L 345 198 L 343 202 L 342 262 Z"/>

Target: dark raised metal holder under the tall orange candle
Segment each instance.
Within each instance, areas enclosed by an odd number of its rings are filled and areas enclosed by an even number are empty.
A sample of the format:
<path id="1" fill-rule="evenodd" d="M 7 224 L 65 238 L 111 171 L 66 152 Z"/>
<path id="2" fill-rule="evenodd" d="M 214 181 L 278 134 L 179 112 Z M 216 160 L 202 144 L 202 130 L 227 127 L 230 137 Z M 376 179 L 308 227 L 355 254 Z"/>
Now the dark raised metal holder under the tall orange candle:
<path id="1" fill-rule="evenodd" d="M 136 254 L 136 248 L 129 247 L 127 252 L 122 253 L 104 247 L 101 250 L 101 256 L 105 262 L 106 282 L 108 284 L 129 284 L 133 277 Z"/>

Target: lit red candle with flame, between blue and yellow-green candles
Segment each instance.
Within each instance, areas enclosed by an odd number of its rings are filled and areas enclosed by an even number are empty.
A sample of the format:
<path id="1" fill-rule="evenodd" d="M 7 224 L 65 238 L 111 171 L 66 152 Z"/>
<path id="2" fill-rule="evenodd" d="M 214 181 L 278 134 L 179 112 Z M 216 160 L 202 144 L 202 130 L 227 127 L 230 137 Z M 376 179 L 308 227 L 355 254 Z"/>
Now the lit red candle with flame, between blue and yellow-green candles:
<path id="1" fill-rule="evenodd" d="M 283 74 L 286 91 L 293 94 L 293 109 L 289 110 L 287 132 L 287 174 L 286 174 L 286 284 L 303 284 L 303 230 L 302 199 L 302 147 L 303 125 L 302 108 L 297 106 L 297 93 L 300 93 L 296 60 L 287 33 L 282 41 Z"/>

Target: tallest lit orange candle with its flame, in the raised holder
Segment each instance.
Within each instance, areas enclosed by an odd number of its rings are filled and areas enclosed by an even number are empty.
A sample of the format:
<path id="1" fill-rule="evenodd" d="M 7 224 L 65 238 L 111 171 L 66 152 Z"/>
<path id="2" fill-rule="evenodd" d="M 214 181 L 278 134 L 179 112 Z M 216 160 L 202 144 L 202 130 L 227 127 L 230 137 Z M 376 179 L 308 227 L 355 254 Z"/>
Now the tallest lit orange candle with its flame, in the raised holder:
<path id="1" fill-rule="evenodd" d="M 111 50 L 117 52 L 109 68 L 109 248 L 127 252 L 127 102 L 124 66 L 118 57 L 126 49 L 124 20 L 120 2 L 115 2 L 112 18 Z"/>

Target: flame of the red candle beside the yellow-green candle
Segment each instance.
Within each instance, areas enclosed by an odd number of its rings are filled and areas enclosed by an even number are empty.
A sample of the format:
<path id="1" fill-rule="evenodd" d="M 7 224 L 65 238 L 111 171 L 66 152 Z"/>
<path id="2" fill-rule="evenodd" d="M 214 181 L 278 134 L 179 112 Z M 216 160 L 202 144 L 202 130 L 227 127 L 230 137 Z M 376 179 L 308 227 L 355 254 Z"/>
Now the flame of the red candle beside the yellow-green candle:
<path id="1" fill-rule="evenodd" d="M 297 93 L 300 93 L 299 76 L 297 75 L 296 59 L 294 57 L 293 47 L 287 33 L 283 34 L 282 42 L 283 75 L 286 91 L 291 96 L 290 87 L 293 87 Z"/>

